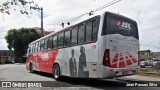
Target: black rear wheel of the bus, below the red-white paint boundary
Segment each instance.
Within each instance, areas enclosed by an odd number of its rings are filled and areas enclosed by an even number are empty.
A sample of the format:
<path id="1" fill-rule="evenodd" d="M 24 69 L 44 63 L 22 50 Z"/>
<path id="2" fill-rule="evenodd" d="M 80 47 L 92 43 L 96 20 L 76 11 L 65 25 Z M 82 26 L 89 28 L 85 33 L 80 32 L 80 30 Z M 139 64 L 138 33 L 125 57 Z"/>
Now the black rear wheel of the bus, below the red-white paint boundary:
<path id="1" fill-rule="evenodd" d="M 57 81 L 60 81 L 60 66 L 58 64 L 55 64 L 53 67 L 53 78 Z"/>

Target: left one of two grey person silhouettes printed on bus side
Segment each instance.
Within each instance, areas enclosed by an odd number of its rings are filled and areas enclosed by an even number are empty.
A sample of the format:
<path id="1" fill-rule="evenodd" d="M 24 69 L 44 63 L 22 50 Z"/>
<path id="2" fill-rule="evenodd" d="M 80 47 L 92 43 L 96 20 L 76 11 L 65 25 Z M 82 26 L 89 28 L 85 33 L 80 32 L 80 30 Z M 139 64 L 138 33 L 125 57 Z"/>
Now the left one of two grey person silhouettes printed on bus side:
<path id="1" fill-rule="evenodd" d="M 71 77 L 77 77 L 77 65 L 76 59 L 74 58 L 74 50 L 71 50 L 72 57 L 69 59 L 69 69 Z"/>

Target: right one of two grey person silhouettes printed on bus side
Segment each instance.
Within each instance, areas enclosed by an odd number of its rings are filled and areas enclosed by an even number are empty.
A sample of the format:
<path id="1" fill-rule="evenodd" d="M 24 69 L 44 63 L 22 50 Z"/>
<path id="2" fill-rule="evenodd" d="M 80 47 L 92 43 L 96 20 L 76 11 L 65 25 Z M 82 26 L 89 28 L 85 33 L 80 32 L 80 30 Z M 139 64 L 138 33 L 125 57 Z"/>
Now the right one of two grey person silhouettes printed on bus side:
<path id="1" fill-rule="evenodd" d="M 87 71 L 85 48 L 80 47 L 79 68 L 78 77 L 89 77 L 89 71 Z"/>

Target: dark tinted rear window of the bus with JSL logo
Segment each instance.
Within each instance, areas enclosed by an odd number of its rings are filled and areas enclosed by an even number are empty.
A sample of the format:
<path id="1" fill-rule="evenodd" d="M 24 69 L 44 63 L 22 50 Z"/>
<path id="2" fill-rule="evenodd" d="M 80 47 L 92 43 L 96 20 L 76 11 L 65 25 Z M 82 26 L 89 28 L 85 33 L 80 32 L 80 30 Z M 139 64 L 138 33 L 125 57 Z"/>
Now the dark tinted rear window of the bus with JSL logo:
<path id="1" fill-rule="evenodd" d="M 109 18 L 109 34 L 121 34 L 138 39 L 136 23 L 125 19 Z"/>

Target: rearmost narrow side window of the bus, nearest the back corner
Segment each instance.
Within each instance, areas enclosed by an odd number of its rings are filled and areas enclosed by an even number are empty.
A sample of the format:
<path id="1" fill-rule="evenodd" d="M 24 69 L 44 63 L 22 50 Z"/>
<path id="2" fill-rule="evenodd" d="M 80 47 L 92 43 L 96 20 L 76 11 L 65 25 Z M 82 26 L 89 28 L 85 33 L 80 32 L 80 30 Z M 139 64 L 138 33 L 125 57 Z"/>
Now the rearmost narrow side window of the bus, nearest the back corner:
<path id="1" fill-rule="evenodd" d="M 92 41 L 96 41 L 98 35 L 98 23 L 96 20 L 93 20 L 92 23 L 93 23 Z"/>

